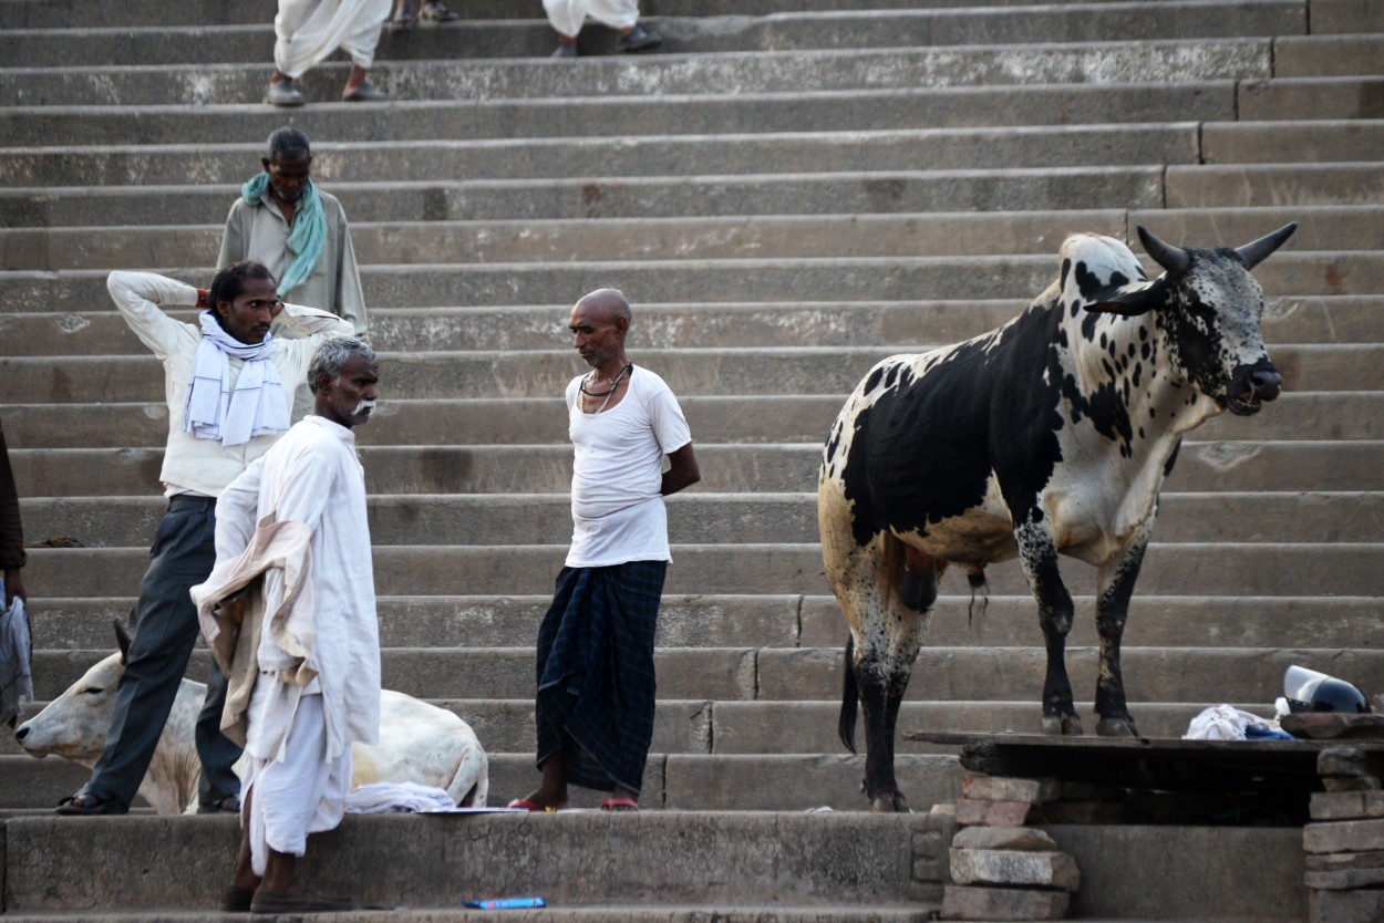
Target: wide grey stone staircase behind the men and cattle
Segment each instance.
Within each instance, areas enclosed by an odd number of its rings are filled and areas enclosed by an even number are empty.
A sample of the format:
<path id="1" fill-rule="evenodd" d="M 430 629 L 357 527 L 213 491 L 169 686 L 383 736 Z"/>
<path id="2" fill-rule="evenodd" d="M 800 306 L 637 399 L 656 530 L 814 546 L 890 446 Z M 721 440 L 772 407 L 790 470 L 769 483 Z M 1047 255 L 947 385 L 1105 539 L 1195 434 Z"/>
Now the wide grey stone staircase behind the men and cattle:
<path id="1" fill-rule="evenodd" d="M 817 545 L 817 462 L 871 364 L 1003 322 L 1078 230 L 1133 239 L 1143 223 L 1212 246 L 1301 223 L 1257 271 L 1287 393 L 1196 430 L 1164 494 L 1125 637 L 1140 729 L 1179 736 L 1221 702 L 1268 711 L 1293 663 L 1384 692 L 1384 4 L 646 0 L 666 53 L 576 62 L 544 57 L 537 0 L 453 6 L 462 22 L 383 37 L 375 75 L 394 102 L 331 102 L 346 73 L 334 62 L 300 82 L 307 108 L 280 112 L 257 102 L 273 3 L 0 0 L 0 415 L 28 538 L 82 545 L 30 552 L 40 700 L 112 648 L 162 509 L 161 372 L 105 274 L 205 285 L 237 188 L 285 122 L 311 137 L 314 176 L 352 217 L 383 351 L 388 403 L 361 443 L 385 684 L 476 728 L 494 803 L 536 778 L 531 645 L 570 534 L 561 390 L 583 371 L 565 331 L 576 298 L 631 298 L 631 356 L 680 396 L 702 462 L 703 483 L 670 501 L 642 800 L 671 816 L 534 818 L 519 846 L 451 855 L 486 866 L 457 887 L 529 881 L 549 899 L 646 908 L 569 919 L 703 919 L 699 901 L 761 908 L 745 911 L 754 920 L 937 908 L 947 825 L 854 814 L 862 761 L 835 736 L 846 631 Z M 612 35 L 583 42 L 599 53 Z M 1095 576 L 1066 570 L 1089 714 Z M 983 613 L 959 577 L 944 583 L 901 729 L 1037 729 L 1034 606 L 1017 566 L 991 583 Z M 955 798 L 952 750 L 900 750 L 916 810 Z M 234 841 L 215 818 L 87 826 L 82 851 L 111 879 L 53 884 L 73 872 L 40 844 L 73 833 L 43 810 L 84 776 L 0 739 L 10 912 L 209 906 Z M 818 805 L 837 814 L 796 816 Z M 349 822 L 324 875 L 358 881 L 372 866 L 354 852 L 375 844 L 378 868 L 389 844 L 407 848 L 396 821 Z M 502 840 L 520 823 L 468 830 Z M 411 829 L 421 855 L 448 854 L 448 837 Z M 648 855 L 605 888 L 516 877 L 554 833 L 574 852 Z M 1293 868 L 1300 843 L 1282 833 L 1241 851 Z M 1215 865 L 1223 837 L 1178 841 L 1201 879 L 1135 898 L 1116 883 L 1167 832 L 1068 836 L 1086 837 L 1068 851 L 1088 883 L 1109 884 L 1078 915 L 1306 916 L 1300 876 L 1265 887 L 1247 859 Z M 151 839 L 170 861 L 220 852 L 205 881 L 169 891 L 131 848 Z M 880 872 L 866 841 L 912 866 Z M 692 843 L 721 865 L 692 861 Z M 756 844 L 797 858 L 775 866 Z M 757 862 L 768 870 L 746 870 Z M 372 899 L 457 895 L 433 881 Z"/>

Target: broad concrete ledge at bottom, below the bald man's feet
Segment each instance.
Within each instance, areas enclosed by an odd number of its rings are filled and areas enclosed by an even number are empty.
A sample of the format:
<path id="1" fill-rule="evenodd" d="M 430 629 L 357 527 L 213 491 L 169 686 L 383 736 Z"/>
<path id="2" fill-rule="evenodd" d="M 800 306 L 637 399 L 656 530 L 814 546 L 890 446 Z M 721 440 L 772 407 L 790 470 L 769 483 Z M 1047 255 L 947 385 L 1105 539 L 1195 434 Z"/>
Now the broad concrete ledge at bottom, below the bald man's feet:
<path id="1" fill-rule="evenodd" d="M 6 826 L 11 913 L 215 906 L 239 836 L 234 818 L 24 818 Z M 349 816 L 313 837 L 304 875 L 328 893 L 386 906 L 518 893 L 558 905 L 760 902 L 772 894 L 808 905 L 916 906 L 929 890 L 913 880 L 913 837 L 949 837 L 949 826 L 871 814 Z"/>

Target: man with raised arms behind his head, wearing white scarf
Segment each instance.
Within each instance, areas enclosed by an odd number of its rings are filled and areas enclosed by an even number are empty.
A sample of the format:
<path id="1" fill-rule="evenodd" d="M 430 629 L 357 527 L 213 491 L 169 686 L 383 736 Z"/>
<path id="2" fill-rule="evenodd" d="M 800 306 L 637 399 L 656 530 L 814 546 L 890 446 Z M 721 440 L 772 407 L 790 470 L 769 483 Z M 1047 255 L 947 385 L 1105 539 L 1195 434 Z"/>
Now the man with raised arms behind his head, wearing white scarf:
<path id="1" fill-rule="evenodd" d="M 288 429 L 293 392 L 307 381 L 313 351 L 349 322 L 284 304 L 273 274 L 237 263 L 216 274 L 210 291 L 152 273 L 111 273 L 107 288 L 130 329 L 163 363 L 169 436 L 159 479 L 169 498 L 149 567 L 140 583 L 134 641 L 116 689 L 105 750 L 91 778 L 58 814 L 126 814 L 148 771 L 179 684 L 197 642 L 188 590 L 216 562 L 216 498 Z M 198 324 L 166 309 L 205 309 Z M 270 335 L 275 317 L 306 339 Z M 220 732 L 226 677 L 215 664 L 198 717 L 201 811 L 235 811 L 239 747 Z"/>

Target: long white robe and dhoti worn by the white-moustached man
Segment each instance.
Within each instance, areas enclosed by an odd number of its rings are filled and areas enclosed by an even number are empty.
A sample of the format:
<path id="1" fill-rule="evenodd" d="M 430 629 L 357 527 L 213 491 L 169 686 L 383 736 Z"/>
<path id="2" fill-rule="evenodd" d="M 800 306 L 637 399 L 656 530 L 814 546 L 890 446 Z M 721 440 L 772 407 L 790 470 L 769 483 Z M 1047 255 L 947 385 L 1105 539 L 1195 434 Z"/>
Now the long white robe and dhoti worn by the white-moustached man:
<path id="1" fill-rule="evenodd" d="M 217 563 L 244 552 L 271 512 L 311 531 L 314 620 L 292 637 L 295 652 L 275 641 L 270 625 L 260 637 L 242 780 L 256 868 L 266 844 L 302 855 L 309 833 L 340 822 L 352 743 L 379 742 L 379 627 L 354 433 L 307 417 L 231 482 L 216 504 Z M 266 572 L 266 612 L 278 610 L 282 596 L 282 572 Z M 317 673 L 306 688 L 268 675 L 302 655 Z"/>

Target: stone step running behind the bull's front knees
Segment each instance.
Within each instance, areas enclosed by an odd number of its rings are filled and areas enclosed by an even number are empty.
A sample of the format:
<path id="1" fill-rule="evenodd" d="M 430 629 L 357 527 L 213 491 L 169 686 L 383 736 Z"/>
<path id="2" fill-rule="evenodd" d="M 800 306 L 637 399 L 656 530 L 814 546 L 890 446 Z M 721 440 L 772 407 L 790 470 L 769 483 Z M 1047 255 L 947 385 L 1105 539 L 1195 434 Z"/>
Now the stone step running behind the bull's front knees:
<path id="1" fill-rule="evenodd" d="M 1068 642 L 1098 643 L 1095 598 L 1073 587 L 1077 619 Z M 123 588 L 134 592 L 133 581 Z M 1039 643 L 1038 610 L 1026 591 L 992 594 L 984 607 L 960 595 L 938 598 L 927 630 L 934 648 L 1013 648 Z M 386 648 L 523 648 L 538 635 L 551 592 L 505 596 L 381 596 Z M 111 621 L 133 596 L 66 598 L 35 585 L 36 650 L 115 650 Z M 1380 637 L 1384 614 L 1372 596 L 1135 595 L 1125 643 L 1145 648 L 1360 648 Z M 668 594 L 657 643 L 671 648 L 841 648 L 847 630 L 829 595 Z"/>

